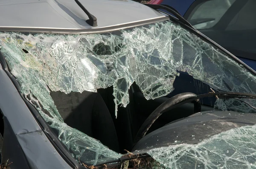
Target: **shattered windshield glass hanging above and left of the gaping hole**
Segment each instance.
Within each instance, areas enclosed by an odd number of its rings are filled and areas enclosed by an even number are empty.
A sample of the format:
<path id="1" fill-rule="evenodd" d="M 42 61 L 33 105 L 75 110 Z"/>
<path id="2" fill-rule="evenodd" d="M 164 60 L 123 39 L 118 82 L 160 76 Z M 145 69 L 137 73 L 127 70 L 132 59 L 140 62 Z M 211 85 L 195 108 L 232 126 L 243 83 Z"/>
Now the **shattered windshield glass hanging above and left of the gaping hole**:
<path id="1" fill-rule="evenodd" d="M 255 76 L 212 45 L 171 21 L 107 34 L 3 32 L 0 39 L 0 50 L 11 73 L 20 83 L 21 93 L 57 131 L 58 138 L 73 157 L 92 165 L 122 155 L 65 124 L 52 99 L 52 92 L 97 92 L 97 89 L 113 86 L 116 113 L 118 105 L 126 107 L 129 104 L 128 90 L 134 82 L 145 99 L 156 99 L 172 93 L 179 72 L 188 73 L 215 91 L 256 93 Z M 254 111 L 235 99 L 217 99 L 214 106 L 242 113 Z M 215 140 L 208 142 L 212 141 Z M 161 151 L 167 152 L 165 149 L 170 153 L 176 151 L 172 147 L 165 147 L 152 150 L 150 155 L 160 163 L 166 163 L 168 159 L 163 161 L 162 157 L 157 156 Z M 188 148 L 179 149 L 186 152 Z M 167 153 L 165 155 L 169 156 Z"/>

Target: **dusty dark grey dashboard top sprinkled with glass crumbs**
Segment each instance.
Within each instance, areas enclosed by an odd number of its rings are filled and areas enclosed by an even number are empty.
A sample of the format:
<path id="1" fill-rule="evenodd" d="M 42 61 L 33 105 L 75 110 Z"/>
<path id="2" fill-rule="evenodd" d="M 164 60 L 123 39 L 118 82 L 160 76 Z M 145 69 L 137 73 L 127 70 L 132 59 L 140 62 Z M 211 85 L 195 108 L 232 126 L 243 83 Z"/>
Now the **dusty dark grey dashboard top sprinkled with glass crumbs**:
<path id="1" fill-rule="evenodd" d="M 255 113 L 206 111 L 167 124 L 145 135 L 133 148 L 143 151 L 159 146 L 198 144 L 201 141 L 233 128 L 256 124 Z M 145 144 L 146 143 L 146 144 Z"/>

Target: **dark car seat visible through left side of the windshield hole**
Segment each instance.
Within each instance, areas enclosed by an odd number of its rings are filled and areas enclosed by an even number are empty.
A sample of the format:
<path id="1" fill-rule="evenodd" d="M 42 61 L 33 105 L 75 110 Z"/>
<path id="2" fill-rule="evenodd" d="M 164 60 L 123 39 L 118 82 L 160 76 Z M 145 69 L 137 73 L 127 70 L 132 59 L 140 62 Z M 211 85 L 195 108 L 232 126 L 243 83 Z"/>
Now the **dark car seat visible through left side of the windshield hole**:
<path id="1" fill-rule="evenodd" d="M 67 125 L 119 152 L 113 119 L 99 93 L 51 91 L 50 95 Z"/>

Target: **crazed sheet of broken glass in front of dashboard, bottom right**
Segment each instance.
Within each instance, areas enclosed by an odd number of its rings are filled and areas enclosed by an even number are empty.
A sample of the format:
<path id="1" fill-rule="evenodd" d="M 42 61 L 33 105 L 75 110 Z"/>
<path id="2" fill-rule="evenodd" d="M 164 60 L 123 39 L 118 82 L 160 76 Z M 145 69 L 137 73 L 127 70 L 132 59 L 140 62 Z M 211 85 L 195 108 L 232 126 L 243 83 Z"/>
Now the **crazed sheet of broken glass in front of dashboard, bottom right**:
<path id="1" fill-rule="evenodd" d="M 148 154 L 170 169 L 252 169 L 256 168 L 255 140 L 256 126 L 244 126 L 198 144 L 160 147 Z"/>

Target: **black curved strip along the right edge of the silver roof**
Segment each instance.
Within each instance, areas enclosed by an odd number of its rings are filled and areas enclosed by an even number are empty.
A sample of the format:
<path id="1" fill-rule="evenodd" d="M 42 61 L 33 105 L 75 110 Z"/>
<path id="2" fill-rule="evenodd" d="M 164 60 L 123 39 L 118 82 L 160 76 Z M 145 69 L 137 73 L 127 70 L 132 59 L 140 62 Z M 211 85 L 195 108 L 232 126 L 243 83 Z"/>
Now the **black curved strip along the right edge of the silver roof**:
<path id="1" fill-rule="evenodd" d="M 171 6 L 169 5 L 154 5 L 154 4 L 144 4 L 145 6 L 148 6 L 150 8 L 153 8 L 153 9 L 165 9 L 166 11 L 170 12 L 171 14 L 173 14 L 175 17 L 178 18 L 178 20 L 189 26 L 190 28 L 194 29 L 193 26 L 187 21 L 185 20 L 181 14 L 175 9 L 175 8 L 172 8 Z"/>

